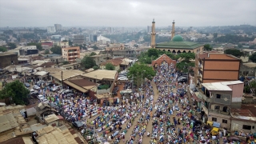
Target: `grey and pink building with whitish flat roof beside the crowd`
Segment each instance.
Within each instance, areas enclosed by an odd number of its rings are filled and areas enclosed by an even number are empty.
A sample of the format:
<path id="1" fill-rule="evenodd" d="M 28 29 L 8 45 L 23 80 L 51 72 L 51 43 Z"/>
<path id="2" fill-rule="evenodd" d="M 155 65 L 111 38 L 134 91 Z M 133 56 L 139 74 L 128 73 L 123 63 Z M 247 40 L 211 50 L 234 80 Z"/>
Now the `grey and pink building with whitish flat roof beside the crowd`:
<path id="1" fill-rule="evenodd" d="M 220 126 L 230 129 L 230 110 L 242 106 L 244 83 L 241 81 L 202 83 L 199 89 L 198 107 L 202 109 L 202 119 L 218 122 Z"/>

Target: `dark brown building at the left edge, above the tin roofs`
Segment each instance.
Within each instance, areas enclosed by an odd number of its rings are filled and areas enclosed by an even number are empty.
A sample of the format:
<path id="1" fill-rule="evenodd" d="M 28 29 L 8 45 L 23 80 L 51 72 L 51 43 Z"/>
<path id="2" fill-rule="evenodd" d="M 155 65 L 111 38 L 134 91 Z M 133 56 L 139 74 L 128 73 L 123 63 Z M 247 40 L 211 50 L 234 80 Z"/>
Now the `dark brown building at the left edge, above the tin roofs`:
<path id="1" fill-rule="evenodd" d="M 0 68 L 4 68 L 10 65 L 18 65 L 18 54 L 0 53 Z"/>

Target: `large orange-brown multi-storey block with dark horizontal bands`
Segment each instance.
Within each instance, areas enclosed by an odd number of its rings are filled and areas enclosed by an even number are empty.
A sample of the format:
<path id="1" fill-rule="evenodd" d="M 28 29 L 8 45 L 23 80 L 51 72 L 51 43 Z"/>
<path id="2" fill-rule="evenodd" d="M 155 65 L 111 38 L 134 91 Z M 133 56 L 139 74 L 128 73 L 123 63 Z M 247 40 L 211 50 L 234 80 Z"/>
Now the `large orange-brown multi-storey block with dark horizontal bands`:
<path id="1" fill-rule="evenodd" d="M 194 84 L 236 81 L 239 78 L 241 60 L 229 54 L 196 54 Z"/>

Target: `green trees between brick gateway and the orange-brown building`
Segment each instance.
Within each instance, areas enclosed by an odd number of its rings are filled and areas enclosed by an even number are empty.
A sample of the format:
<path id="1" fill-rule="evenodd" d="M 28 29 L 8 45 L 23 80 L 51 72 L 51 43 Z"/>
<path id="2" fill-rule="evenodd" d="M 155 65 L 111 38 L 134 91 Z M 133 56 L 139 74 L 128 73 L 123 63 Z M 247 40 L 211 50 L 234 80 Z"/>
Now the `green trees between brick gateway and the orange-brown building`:
<path id="1" fill-rule="evenodd" d="M 176 58 L 181 58 L 181 62 L 176 64 L 178 70 L 181 70 L 183 73 L 186 73 L 190 70 L 190 67 L 194 67 L 194 62 L 190 62 L 190 60 L 195 58 L 194 53 L 182 53 L 178 54 Z"/>

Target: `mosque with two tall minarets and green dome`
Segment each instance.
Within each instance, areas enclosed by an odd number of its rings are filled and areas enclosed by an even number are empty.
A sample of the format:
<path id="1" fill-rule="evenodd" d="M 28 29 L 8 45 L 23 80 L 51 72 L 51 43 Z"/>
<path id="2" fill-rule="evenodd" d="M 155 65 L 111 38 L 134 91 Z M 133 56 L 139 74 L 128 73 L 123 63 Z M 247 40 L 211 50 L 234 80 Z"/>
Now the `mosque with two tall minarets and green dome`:
<path id="1" fill-rule="evenodd" d="M 153 19 L 152 22 L 152 31 L 151 31 L 151 48 L 162 51 L 170 51 L 173 54 L 180 53 L 198 53 L 203 50 L 203 45 L 198 42 L 186 42 L 183 40 L 182 36 L 175 35 L 175 22 L 173 22 L 172 31 L 171 31 L 171 40 L 170 42 L 161 42 L 155 43 L 155 22 Z"/>

